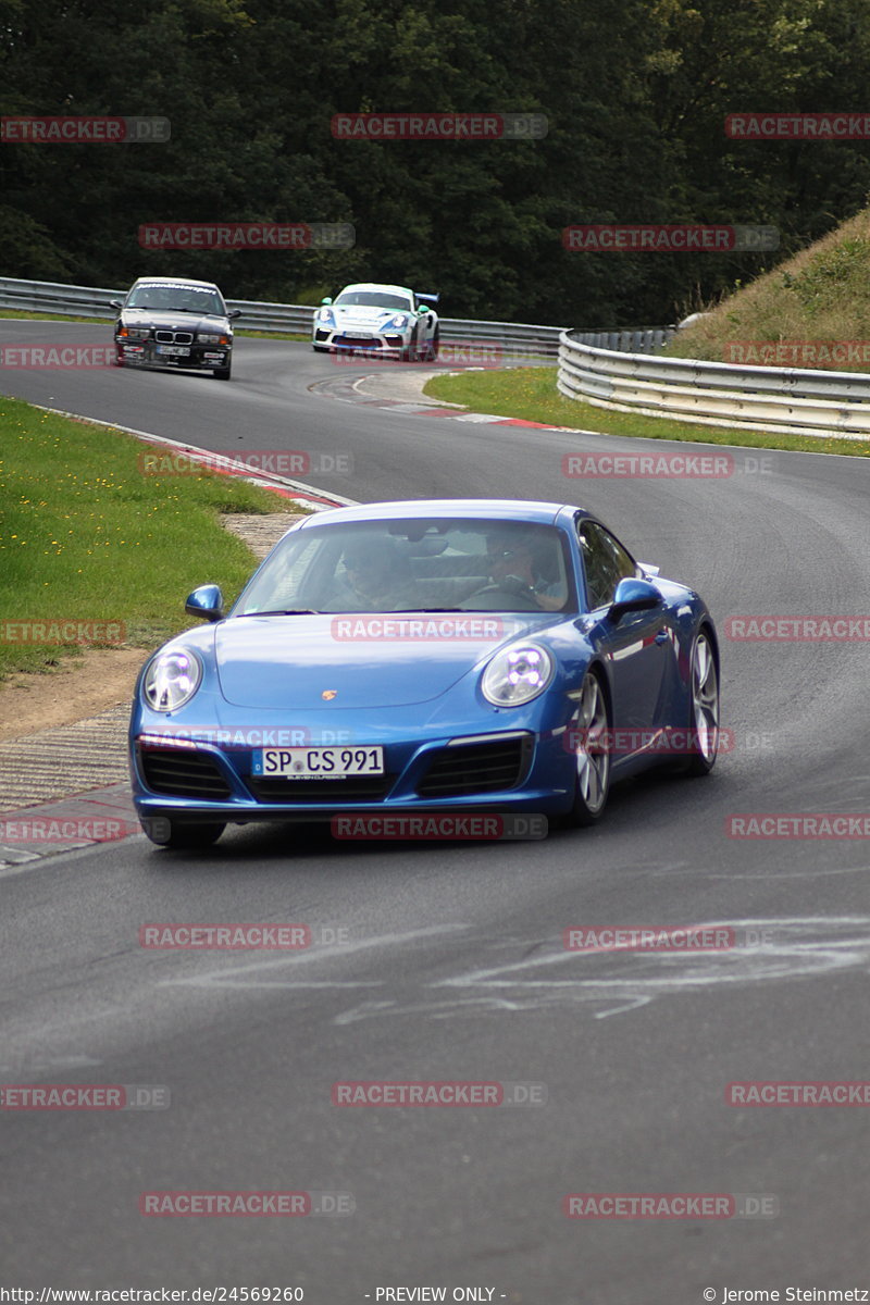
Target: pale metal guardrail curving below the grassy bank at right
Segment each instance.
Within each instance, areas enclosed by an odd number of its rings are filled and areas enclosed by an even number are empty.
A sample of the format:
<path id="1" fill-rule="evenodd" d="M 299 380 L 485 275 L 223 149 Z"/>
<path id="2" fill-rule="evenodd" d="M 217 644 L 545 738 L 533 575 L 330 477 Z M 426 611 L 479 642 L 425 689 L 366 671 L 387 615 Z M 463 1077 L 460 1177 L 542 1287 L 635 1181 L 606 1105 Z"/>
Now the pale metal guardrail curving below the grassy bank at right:
<path id="1" fill-rule="evenodd" d="M 569 399 L 621 412 L 788 435 L 870 436 L 870 375 L 862 372 L 639 356 L 565 330 L 557 385 Z"/>

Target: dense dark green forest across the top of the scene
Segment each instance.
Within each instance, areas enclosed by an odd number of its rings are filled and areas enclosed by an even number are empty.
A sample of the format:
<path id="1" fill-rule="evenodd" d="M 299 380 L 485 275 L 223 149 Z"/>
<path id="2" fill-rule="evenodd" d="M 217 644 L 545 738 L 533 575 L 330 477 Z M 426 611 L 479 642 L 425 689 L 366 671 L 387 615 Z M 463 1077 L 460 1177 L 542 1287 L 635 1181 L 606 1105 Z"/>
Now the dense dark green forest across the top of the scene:
<path id="1" fill-rule="evenodd" d="M 0 112 L 164 116 L 162 144 L 0 145 L 0 274 L 146 271 L 450 317 L 673 321 L 866 202 L 870 141 L 743 141 L 870 111 L 866 0 L 0 0 Z M 539 140 L 342 140 L 337 114 L 530 112 Z M 143 249 L 147 222 L 352 223 L 351 249 Z M 571 252 L 573 223 L 760 223 L 776 254 Z"/>

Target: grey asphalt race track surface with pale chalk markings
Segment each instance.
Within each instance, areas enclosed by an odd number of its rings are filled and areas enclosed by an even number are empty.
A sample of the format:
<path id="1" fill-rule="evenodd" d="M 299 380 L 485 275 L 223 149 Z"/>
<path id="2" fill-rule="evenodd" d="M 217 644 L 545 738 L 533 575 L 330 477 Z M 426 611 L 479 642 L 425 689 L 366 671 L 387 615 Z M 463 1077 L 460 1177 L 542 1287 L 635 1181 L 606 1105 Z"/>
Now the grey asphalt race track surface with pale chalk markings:
<path id="1" fill-rule="evenodd" d="M 4 343 L 104 338 L 0 324 Z M 870 612 L 866 461 L 767 453 L 757 472 L 733 450 L 723 479 L 580 483 L 565 453 L 627 444 L 339 403 L 317 393 L 338 368 L 303 345 L 243 339 L 235 367 L 228 385 L 10 369 L 0 389 L 220 452 L 351 452 L 352 479 L 316 483 L 361 501 L 580 501 L 697 585 L 720 629 Z M 866 642 L 723 638 L 734 749 L 713 775 L 621 786 L 600 826 L 544 843 L 247 827 L 198 856 L 133 838 L 8 874 L 0 1078 L 166 1084 L 171 1107 L 0 1112 L 4 1284 L 303 1287 L 327 1305 L 386 1287 L 513 1305 L 870 1287 L 866 1109 L 725 1104 L 732 1081 L 867 1078 L 866 840 L 725 834 L 730 813 L 870 809 L 867 671 Z M 350 942 L 143 950 L 151 921 L 304 921 Z M 702 923 L 766 945 L 577 955 L 561 941 L 578 924 Z M 535 1082 L 548 1100 L 334 1107 L 347 1079 Z M 167 1189 L 347 1191 L 356 1210 L 140 1215 L 140 1193 Z M 771 1194 L 779 1214 L 577 1220 L 567 1193 Z"/>

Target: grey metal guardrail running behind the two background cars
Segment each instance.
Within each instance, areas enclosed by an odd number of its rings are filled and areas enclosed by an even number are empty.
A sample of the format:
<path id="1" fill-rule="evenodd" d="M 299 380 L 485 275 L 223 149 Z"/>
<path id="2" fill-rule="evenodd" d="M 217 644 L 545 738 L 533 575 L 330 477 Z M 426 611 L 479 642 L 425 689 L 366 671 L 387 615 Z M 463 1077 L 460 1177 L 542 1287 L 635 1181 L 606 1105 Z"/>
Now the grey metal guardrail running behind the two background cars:
<path id="1" fill-rule="evenodd" d="M 18 281 L 0 277 L 0 312 L 18 308 L 27 312 L 50 312 L 59 317 L 115 317 L 110 300 L 124 299 L 125 290 L 106 290 L 99 286 L 63 286 L 50 281 Z M 316 309 L 308 304 L 270 304 L 252 299 L 228 299 L 230 308 L 241 312 L 239 326 L 262 331 L 286 331 L 308 335 Z M 563 326 L 533 326 L 526 322 L 467 321 L 442 317 L 443 338 L 457 341 L 485 341 L 523 352 L 556 358 Z M 590 342 L 621 341 L 626 348 L 644 352 L 664 342 L 665 330 L 622 331 L 607 334 L 588 331 L 582 335 Z M 668 337 L 669 338 L 669 337 Z M 605 346 L 607 347 L 607 346 Z M 609 347 L 621 347 L 610 345 Z"/>

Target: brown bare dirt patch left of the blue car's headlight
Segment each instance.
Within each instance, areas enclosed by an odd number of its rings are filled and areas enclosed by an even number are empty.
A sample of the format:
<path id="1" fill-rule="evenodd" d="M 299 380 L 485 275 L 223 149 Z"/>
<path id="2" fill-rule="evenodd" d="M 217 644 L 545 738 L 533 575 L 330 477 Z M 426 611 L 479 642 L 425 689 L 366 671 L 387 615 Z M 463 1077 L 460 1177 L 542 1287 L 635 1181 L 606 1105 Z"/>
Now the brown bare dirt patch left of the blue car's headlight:
<path id="1" fill-rule="evenodd" d="M 147 649 L 91 649 L 48 675 L 20 672 L 0 685 L 0 739 L 72 724 L 133 701 Z"/>

